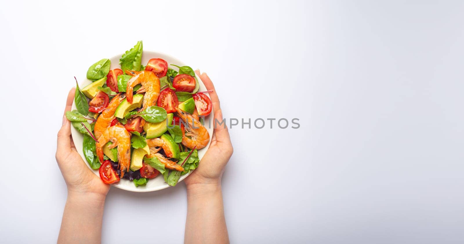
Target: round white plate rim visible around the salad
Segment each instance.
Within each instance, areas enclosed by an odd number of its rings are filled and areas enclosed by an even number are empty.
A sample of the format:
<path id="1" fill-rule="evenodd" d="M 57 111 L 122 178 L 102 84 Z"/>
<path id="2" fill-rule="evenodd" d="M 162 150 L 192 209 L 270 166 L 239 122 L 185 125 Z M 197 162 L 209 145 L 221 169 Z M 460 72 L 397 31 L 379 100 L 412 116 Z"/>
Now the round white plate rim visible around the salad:
<path id="1" fill-rule="evenodd" d="M 111 69 L 121 68 L 120 65 L 119 65 L 119 59 L 121 58 L 121 56 L 122 56 L 122 54 L 116 55 L 116 56 L 110 58 L 110 60 L 111 60 Z M 185 66 L 185 64 L 183 62 L 179 61 L 178 59 L 176 59 L 176 58 L 174 58 L 172 56 L 157 53 L 157 52 L 150 52 L 150 51 L 143 51 L 143 53 L 142 53 L 142 64 L 146 65 L 148 63 L 148 60 L 150 60 L 152 58 L 162 58 L 162 59 L 166 60 L 169 65 L 170 64 L 175 64 L 175 65 L 178 65 L 178 66 Z M 90 65 L 92 65 L 96 61 L 97 60 L 89 61 L 89 67 L 90 67 Z M 169 67 L 173 68 L 175 70 L 178 70 L 177 67 L 174 67 L 174 66 L 169 66 Z M 76 77 L 79 80 L 79 87 L 81 89 L 84 88 L 86 85 L 89 85 L 90 83 L 92 83 L 91 80 L 86 79 L 86 72 L 87 71 L 82 72 L 82 75 L 80 77 Z M 196 74 L 195 74 L 195 76 L 196 76 L 197 80 L 200 83 L 200 89 L 198 91 L 199 92 L 206 91 L 206 87 L 203 84 L 203 82 L 201 81 L 200 77 L 198 77 Z M 206 93 L 206 95 L 209 97 L 208 93 Z M 74 103 L 72 104 L 72 109 L 73 110 L 76 109 L 76 105 Z M 208 126 L 207 121 L 209 121 L 209 119 L 213 118 L 213 114 L 214 114 L 214 112 L 211 111 L 211 114 L 206 116 L 206 118 L 205 118 L 205 127 L 209 132 L 209 137 L 210 137 L 209 141 L 210 142 L 211 142 L 211 138 L 213 137 L 213 127 Z M 93 171 L 98 177 L 100 177 L 100 175 L 98 173 L 98 170 L 92 170 L 90 168 L 90 165 L 87 163 L 87 160 L 84 157 L 84 153 L 82 151 L 82 142 L 83 142 L 84 136 L 81 133 L 79 133 L 72 126 L 71 126 L 71 135 L 72 135 L 72 140 L 74 141 L 74 145 L 76 145 L 76 150 L 81 155 L 81 157 L 84 160 L 85 164 L 89 167 L 89 169 L 91 171 Z M 200 160 L 203 158 L 203 155 L 205 155 L 206 150 L 209 147 L 210 142 L 208 142 L 208 145 L 206 145 L 206 147 L 198 150 L 198 157 L 200 158 Z M 187 177 L 189 174 L 190 173 L 181 176 L 180 179 L 179 179 L 179 182 L 181 182 L 183 179 L 185 179 L 185 177 Z M 153 178 L 153 179 L 150 179 L 146 186 L 135 187 L 135 184 L 132 181 L 129 181 L 129 180 L 126 180 L 126 179 L 121 179 L 120 182 L 112 184 L 112 185 L 117 187 L 117 188 L 120 188 L 120 189 L 124 189 L 124 190 L 128 190 L 128 191 L 135 191 L 135 192 L 156 191 L 156 190 L 161 190 L 161 189 L 165 189 L 165 188 L 169 187 L 169 185 L 164 182 L 164 179 L 163 179 L 161 174 L 158 175 L 157 177 Z"/>

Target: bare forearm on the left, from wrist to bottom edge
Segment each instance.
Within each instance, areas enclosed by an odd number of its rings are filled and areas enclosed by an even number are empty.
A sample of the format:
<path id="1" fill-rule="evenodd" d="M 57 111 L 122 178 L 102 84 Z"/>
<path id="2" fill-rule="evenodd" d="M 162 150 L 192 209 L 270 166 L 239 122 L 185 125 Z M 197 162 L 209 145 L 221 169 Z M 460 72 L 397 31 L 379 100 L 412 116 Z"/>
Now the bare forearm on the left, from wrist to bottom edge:
<path id="1" fill-rule="evenodd" d="M 101 243 L 104 204 L 104 195 L 68 192 L 58 243 Z"/>

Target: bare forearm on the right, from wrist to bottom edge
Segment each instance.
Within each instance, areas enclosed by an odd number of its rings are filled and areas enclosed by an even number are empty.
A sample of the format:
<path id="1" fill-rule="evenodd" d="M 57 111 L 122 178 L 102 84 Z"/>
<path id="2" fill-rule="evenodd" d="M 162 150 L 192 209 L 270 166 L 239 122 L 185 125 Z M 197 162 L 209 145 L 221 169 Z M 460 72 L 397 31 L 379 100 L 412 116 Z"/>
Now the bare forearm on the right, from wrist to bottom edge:
<path id="1" fill-rule="evenodd" d="M 220 184 L 187 185 L 184 243 L 229 243 Z"/>

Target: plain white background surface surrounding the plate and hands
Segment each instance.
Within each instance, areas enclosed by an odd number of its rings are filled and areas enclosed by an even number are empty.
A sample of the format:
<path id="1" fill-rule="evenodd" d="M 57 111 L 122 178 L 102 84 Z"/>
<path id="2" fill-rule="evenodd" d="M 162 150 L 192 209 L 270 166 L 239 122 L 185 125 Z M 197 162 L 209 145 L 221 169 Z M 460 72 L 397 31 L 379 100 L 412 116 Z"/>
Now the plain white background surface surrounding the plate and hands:
<path id="1" fill-rule="evenodd" d="M 66 2 L 1 3 L 1 242 L 56 241 L 73 76 L 143 40 L 208 72 L 226 118 L 300 119 L 230 129 L 232 243 L 462 243 L 462 2 Z M 185 216 L 183 183 L 112 188 L 103 243 L 181 243 Z"/>

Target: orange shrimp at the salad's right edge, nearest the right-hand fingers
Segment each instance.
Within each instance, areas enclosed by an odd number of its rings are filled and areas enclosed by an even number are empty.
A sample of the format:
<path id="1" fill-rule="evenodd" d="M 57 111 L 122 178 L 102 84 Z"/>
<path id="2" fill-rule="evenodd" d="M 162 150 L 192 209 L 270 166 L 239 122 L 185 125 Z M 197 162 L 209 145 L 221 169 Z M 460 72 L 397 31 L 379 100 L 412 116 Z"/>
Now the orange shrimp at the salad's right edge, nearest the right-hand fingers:
<path id="1" fill-rule="evenodd" d="M 200 121 L 180 109 L 177 109 L 177 114 L 185 122 L 185 130 L 187 131 L 187 133 L 182 131 L 182 144 L 190 149 L 200 149 L 208 145 L 209 133 Z"/>

